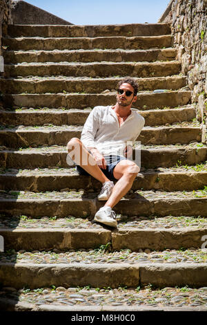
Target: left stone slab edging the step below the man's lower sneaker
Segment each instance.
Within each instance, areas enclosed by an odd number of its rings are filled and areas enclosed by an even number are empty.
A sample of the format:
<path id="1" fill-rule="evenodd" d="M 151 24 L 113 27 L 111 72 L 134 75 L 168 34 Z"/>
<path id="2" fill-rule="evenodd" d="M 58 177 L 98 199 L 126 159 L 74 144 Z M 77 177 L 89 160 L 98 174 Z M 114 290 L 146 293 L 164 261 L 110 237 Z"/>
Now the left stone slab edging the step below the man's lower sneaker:
<path id="1" fill-rule="evenodd" d="M 200 233 L 201 234 L 201 233 Z M 200 235 L 199 234 L 199 235 Z M 92 249 L 111 241 L 110 230 L 105 229 L 12 229 L 0 228 L 4 250 L 59 250 Z M 19 239 L 18 239 L 19 236 Z M 12 244 L 13 241 L 13 245 Z"/>

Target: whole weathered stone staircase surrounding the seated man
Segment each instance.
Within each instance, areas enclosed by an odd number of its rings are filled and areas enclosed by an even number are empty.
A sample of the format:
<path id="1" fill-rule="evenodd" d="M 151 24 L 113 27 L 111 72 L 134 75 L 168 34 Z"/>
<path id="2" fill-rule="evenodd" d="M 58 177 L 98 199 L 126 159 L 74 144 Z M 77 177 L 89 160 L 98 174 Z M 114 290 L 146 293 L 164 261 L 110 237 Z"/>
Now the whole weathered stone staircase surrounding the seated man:
<path id="1" fill-rule="evenodd" d="M 207 147 L 170 25 L 4 26 L 2 42 L 1 310 L 206 310 Z M 66 144 L 126 75 L 146 120 L 142 167 L 111 230 L 92 223 L 101 186 L 67 165 Z M 140 302 L 146 286 L 203 300 Z M 130 298 L 104 300 L 119 288 Z"/>

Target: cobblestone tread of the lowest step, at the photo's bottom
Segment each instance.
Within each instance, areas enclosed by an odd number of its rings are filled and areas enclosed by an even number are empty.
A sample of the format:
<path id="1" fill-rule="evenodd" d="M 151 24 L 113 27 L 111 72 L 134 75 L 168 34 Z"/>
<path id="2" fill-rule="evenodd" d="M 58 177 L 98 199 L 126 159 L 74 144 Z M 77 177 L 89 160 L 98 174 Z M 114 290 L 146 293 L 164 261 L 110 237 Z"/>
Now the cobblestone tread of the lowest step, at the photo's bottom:
<path id="1" fill-rule="evenodd" d="M 23 303 L 41 306 L 168 306 L 198 307 L 207 310 L 207 287 L 189 288 L 1 288 L 0 298 L 8 297 Z"/>

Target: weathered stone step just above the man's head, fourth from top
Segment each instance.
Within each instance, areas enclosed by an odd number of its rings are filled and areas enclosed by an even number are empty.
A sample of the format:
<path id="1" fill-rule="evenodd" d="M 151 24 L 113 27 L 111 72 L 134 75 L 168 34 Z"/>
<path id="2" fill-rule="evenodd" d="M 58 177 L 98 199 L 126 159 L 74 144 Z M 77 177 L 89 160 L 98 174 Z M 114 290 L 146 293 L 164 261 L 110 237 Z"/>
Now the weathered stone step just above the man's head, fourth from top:
<path id="1" fill-rule="evenodd" d="M 180 72 L 181 65 L 177 61 L 170 62 L 92 62 L 92 63 L 30 63 L 5 64 L 6 77 L 17 75 L 46 76 L 63 75 L 74 77 L 110 77 L 112 75 L 131 77 L 166 77 Z"/>

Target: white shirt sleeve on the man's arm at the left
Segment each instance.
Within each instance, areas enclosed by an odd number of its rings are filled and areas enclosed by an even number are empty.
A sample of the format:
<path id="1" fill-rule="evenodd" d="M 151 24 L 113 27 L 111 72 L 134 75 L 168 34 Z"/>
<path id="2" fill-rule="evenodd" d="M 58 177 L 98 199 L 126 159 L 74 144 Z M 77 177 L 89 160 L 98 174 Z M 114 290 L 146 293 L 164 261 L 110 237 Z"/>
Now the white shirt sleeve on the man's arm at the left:
<path id="1" fill-rule="evenodd" d="M 88 115 L 88 118 L 86 120 L 86 123 L 84 124 L 82 133 L 81 133 L 81 141 L 83 142 L 83 145 L 88 147 L 96 147 L 95 145 L 95 136 L 97 133 L 97 130 L 99 129 L 99 114 L 98 114 L 98 106 L 96 106 L 90 114 Z"/>

